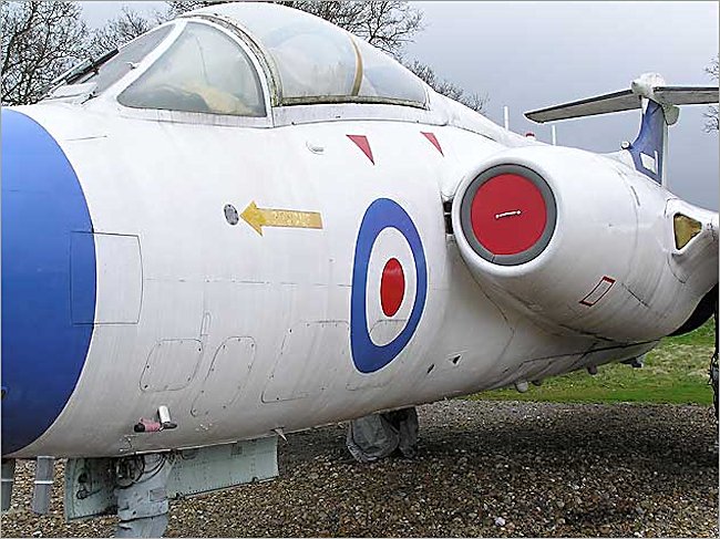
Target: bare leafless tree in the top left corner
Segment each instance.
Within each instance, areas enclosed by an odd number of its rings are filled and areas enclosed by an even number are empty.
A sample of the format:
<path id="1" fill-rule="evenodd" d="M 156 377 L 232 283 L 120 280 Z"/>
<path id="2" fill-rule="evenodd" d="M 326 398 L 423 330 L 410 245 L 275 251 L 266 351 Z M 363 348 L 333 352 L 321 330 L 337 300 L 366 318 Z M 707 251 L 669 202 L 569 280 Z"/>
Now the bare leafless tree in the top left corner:
<path id="1" fill-rule="evenodd" d="M 2 104 L 34 103 L 86 55 L 88 29 L 74 2 L 2 2 Z"/>

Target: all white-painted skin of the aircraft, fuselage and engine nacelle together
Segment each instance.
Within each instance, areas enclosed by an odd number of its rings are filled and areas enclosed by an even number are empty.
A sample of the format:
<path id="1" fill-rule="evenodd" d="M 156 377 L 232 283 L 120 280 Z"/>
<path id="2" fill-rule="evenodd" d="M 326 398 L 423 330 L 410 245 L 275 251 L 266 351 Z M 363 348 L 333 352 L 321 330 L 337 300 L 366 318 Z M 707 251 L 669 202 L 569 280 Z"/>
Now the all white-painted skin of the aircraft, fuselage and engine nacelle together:
<path id="1" fill-rule="evenodd" d="M 224 7 L 191 13 L 171 23 L 174 34 L 191 20 L 223 29 L 212 13 L 233 15 Z M 717 282 L 717 216 L 617 160 L 531 142 L 430 89 L 426 110 L 270 107 L 268 94 L 271 114 L 259 120 L 121 105 L 117 94 L 171 41 L 96 99 L 20 108 L 52 134 L 80 178 L 96 235 L 97 300 L 70 402 L 16 457 L 256 438 L 635 357 Z M 374 164 L 348 135 L 367 136 Z M 516 267 L 475 256 L 443 218 L 443 201 L 459 200 L 497 163 L 536 169 L 557 199 L 551 243 Z M 353 257 L 378 198 L 415 224 L 428 296 L 404 350 L 363 374 L 350 346 Z M 226 205 L 239 213 L 253 201 L 320 213 L 322 229 L 260 236 L 243 220 L 228 224 Z M 704 226 L 687 252 L 672 242 L 678 208 Z M 452 219 L 457 232 L 457 205 Z M 405 271 L 398 314 L 382 313 L 382 263 L 415 263 L 395 232 L 380 234 L 368 262 L 368 330 L 378 344 L 402 330 L 418 288 Z M 616 280 L 610 292 L 593 309 L 580 304 L 604 276 Z M 177 428 L 134 433 L 161 405 Z"/>

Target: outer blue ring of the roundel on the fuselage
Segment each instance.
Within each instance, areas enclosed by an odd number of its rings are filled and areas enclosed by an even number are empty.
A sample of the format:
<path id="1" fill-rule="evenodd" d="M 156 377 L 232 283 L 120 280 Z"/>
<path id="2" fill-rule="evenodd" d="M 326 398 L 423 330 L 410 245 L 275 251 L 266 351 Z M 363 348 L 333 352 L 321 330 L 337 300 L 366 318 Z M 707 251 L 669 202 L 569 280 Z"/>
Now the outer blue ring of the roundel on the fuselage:
<path id="1" fill-rule="evenodd" d="M 410 245 L 415 261 L 415 301 L 408 323 L 400 334 L 388 344 L 378 346 L 368 331 L 366 296 L 368 293 L 368 265 L 372 246 L 380 232 L 394 228 Z M 358 371 L 372 373 L 379 371 L 403 351 L 418 329 L 428 297 L 428 266 L 420 234 L 408 213 L 394 200 L 379 198 L 366 211 L 354 250 L 352 269 L 352 291 L 350 297 L 350 348 L 352 362 Z"/>

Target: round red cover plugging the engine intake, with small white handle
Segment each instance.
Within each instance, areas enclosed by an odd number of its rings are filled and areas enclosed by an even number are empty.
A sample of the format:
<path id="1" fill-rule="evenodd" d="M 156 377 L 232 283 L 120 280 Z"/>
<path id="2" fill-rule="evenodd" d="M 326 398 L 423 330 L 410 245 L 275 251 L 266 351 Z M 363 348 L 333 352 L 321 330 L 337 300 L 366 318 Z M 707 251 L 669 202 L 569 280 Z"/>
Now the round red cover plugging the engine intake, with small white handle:
<path id="1" fill-rule="evenodd" d="M 547 209 L 541 190 L 517 174 L 501 174 L 480 186 L 470 210 L 477 241 L 493 255 L 517 255 L 543 235 Z"/>

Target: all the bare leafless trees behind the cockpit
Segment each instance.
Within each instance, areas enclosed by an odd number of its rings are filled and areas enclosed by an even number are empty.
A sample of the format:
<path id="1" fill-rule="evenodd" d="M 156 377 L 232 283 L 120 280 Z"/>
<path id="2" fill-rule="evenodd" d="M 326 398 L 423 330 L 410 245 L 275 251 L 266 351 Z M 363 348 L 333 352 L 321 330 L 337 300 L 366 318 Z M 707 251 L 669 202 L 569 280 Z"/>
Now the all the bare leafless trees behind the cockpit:
<path id="1" fill-rule="evenodd" d="M 78 61 L 90 55 L 99 56 L 160 22 L 214 3 L 218 2 L 168 1 L 165 12 L 155 12 L 150 18 L 123 7 L 120 15 L 90 33 L 80 19 L 81 9 L 74 2 L 2 2 L 2 103 L 34 103 L 52 80 Z M 403 45 L 422 30 L 422 11 L 398 0 L 282 0 L 276 3 L 330 21 L 400 61 L 403 61 Z M 407 63 L 407 66 L 436 92 L 477 112 L 483 111 L 486 96 L 466 93 L 456 84 L 436 76 L 432 68 L 420 61 Z"/>

